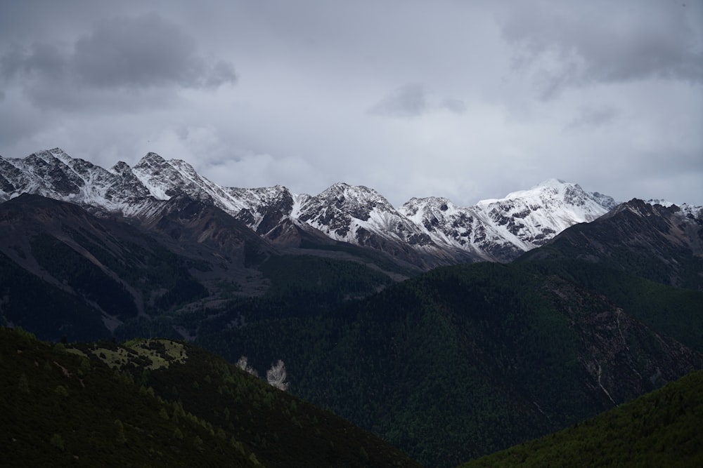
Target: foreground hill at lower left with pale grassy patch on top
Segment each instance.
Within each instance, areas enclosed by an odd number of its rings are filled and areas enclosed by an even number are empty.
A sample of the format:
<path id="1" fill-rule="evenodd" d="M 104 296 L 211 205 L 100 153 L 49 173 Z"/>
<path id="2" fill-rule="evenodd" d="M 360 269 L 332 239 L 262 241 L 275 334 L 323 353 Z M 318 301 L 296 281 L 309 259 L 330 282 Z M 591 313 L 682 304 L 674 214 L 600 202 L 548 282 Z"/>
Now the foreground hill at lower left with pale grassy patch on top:
<path id="1" fill-rule="evenodd" d="M 0 328 L 5 466 L 412 467 L 396 448 L 189 345 L 48 345 Z"/>

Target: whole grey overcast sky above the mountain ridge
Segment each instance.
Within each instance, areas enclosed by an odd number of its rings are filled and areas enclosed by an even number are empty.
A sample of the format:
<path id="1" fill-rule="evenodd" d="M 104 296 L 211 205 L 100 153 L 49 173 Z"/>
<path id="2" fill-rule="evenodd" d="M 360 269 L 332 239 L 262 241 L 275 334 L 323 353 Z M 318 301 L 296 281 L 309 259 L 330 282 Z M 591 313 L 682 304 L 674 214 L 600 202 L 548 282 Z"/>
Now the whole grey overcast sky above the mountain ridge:
<path id="1" fill-rule="evenodd" d="M 0 155 L 703 204 L 703 0 L 0 0 Z"/>

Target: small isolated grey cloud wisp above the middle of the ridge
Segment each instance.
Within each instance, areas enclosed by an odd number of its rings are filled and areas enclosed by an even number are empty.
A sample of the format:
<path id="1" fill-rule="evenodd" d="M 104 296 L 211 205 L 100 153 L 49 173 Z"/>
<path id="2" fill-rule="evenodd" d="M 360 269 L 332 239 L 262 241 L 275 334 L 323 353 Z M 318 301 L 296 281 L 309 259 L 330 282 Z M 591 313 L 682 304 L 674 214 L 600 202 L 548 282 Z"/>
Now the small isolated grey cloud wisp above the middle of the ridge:
<path id="1" fill-rule="evenodd" d="M 368 109 L 369 114 L 411 119 L 419 117 L 434 108 L 446 109 L 454 114 L 466 111 L 465 103 L 456 98 L 444 98 L 434 102 L 432 95 L 420 83 L 408 83 L 387 95 Z"/>

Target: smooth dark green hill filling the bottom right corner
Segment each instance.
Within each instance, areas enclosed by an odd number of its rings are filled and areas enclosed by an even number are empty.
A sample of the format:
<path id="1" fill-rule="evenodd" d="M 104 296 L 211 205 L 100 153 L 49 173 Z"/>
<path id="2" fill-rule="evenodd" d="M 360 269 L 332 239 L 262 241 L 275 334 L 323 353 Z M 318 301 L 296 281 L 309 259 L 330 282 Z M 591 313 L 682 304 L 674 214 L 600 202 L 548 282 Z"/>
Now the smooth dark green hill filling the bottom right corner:
<path id="1" fill-rule="evenodd" d="M 703 371 L 593 419 L 461 465 L 478 467 L 703 466 Z"/>

